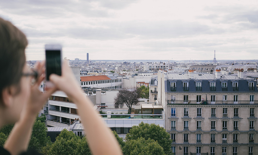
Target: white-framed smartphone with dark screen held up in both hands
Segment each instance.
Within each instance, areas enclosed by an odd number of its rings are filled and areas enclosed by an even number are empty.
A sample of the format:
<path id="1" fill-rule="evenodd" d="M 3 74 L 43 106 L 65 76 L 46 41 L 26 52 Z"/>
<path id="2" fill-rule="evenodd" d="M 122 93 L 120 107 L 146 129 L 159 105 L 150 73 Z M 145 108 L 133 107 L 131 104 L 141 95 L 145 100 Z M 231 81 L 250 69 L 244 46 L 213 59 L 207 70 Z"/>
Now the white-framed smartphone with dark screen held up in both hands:
<path id="1" fill-rule="evenodd" d="M 54 73 L 61 76 L 62 70 L 62 45 L 60 44 L 46 44 L 46 83 L 49 82 L 49 76 Z"/>

